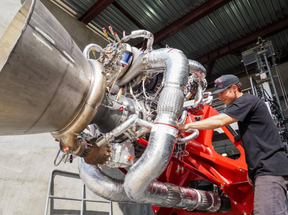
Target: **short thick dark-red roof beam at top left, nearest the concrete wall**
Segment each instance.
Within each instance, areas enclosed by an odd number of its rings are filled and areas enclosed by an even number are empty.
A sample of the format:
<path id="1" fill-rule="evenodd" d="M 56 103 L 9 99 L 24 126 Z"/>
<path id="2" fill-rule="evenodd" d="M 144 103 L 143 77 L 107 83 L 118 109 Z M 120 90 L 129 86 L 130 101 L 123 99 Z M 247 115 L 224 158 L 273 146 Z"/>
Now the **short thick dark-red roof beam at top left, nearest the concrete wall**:
<path id="1" fill-rule="evenodd" d="M 115 0 L 98 0 L 78 20 L 87 25 Z"/>

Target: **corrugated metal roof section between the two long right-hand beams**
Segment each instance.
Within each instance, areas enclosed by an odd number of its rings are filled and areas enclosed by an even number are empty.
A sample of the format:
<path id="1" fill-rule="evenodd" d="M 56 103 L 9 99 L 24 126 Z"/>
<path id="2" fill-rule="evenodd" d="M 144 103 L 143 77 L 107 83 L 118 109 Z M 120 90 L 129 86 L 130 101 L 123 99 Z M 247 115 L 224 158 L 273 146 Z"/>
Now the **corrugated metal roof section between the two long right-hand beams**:
<path id="1" fill-rule="evenodd" d="M 288 3 L 284 0 L 233 0 L 163 43 L 194 59 L 287 15 Z"/>

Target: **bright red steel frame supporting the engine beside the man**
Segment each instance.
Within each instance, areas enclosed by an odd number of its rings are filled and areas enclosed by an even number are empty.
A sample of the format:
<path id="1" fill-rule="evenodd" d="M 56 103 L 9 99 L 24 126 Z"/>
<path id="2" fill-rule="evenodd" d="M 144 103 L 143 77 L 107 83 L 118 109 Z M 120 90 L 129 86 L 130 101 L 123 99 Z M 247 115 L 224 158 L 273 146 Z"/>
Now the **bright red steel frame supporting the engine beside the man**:
<path id="1" fill-rule="evenodd" d="M 188 112 L 185 123 L 194 122 L 193 111 Z M 214 108 L 204 106 L 202 119 L 219 114 Z M 238 159 L 219 155 L 212 146 L 213 130 L 200 130 L 199 136 L 190 141 L 186 147 L 189 155 L 184 161 L 172 157 L 170 164 L 158 178 L 159 181 L 187 186 L 190 181 L 207 180 L 223 190 L 230 201 L 229 213 L 216 213 L 218 215 L 250 215 L 253 211 L 253 190 L 247 182 L 247 165 L 244 149 L 240 141 L 235 141 L 233 135 L 226 127 L 222 127 L 225 134 L 235 144 L 241 155 Z M 139 139 L 138 142 L 147 146 L 147 141 Z M 184 167 L 184 173 L 176 174 L 177 164 Z M 203 215 L 206 212 L 188 212 L 176 208 L 152 206 L 155 214 L 161 215 Z M 211 214 L 211 213 L 209 213 Z"/>

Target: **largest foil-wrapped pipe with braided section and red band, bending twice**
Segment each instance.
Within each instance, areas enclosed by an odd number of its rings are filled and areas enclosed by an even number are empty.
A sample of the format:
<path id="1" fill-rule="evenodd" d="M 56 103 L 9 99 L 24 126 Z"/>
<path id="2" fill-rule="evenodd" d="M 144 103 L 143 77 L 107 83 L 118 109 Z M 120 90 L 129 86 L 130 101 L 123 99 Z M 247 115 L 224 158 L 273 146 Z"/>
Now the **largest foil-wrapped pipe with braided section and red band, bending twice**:
<path id="1" fill-rule="evenodd" d="M 183 52 L 170 48 L 152 51 L 143 57 L 143 61 L 146 69 L 166 68 L 167 71 L 148 146 L 137 163 L 129 169 L 124 180 L 125 192 L 135 202 L 176 208 L 195 208 L 201 204 L 204 207 L 201 209 L 217 211 L 221 203 L 214 193 L 205 192 L 201 195 L 200 191 L 194 189 L 155 181 L 172 157 L 189 64 Z M 209 201 L 205 200 L 207 196 L 211 197 Z"/>

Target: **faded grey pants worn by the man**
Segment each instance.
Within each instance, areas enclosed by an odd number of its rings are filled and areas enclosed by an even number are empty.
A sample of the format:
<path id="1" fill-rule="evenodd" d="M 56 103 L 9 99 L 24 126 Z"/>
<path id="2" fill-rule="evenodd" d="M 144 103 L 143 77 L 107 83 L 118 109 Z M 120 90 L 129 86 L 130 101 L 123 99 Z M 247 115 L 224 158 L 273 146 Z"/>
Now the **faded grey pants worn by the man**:
<path id="1" fill-rule="evenodd" d="M 288 215 L 287 176 L 261 175 L 253 182 L 254 215 Z"/>

